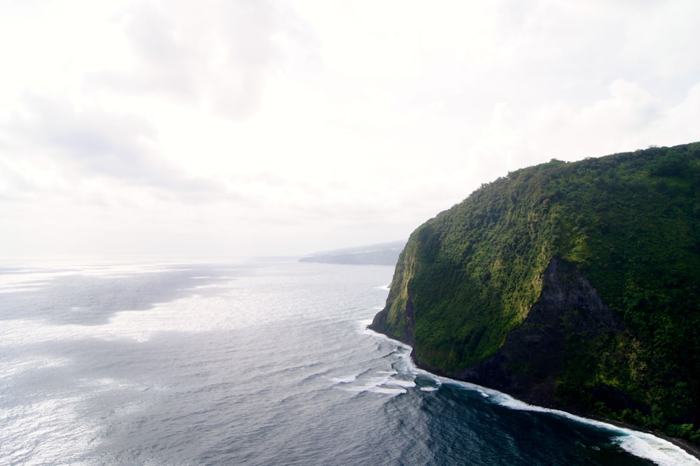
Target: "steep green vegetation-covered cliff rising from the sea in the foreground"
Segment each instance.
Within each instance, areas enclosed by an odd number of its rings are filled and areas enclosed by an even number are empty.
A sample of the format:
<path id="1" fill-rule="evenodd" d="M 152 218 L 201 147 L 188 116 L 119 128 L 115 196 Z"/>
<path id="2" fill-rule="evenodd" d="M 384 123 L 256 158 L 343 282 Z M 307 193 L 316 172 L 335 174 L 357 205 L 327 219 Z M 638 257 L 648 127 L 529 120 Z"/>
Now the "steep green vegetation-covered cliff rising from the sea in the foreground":
<path id="1" fill-rule="evenodd" d="M 700 143 L 552 160 L 418 227 L 370 325 L 433 372 L 700 440 Z"/>

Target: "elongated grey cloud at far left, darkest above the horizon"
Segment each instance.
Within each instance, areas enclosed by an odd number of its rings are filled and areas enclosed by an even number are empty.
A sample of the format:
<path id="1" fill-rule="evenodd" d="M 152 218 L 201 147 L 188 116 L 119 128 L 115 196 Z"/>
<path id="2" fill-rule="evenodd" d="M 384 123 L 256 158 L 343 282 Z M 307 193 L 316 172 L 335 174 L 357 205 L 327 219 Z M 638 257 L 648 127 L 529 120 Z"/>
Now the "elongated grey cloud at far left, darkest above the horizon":
<path id="1" fill-rule="evenodd" d="M 66 181 L 85 183 L 97 177 L 195 199 L 223 194 L 221 186 L 188 176 L 159 155 L 154 148 L 157 130 L 136 115 L 99 107 L 76 108 L 67 99 L 25 95 L 21 111 L 5 129 L 13 135 L 15 149 L 30 162 L 34 160 L 34 169 L 59 169 L 62 173 L 57 176 Z"/>

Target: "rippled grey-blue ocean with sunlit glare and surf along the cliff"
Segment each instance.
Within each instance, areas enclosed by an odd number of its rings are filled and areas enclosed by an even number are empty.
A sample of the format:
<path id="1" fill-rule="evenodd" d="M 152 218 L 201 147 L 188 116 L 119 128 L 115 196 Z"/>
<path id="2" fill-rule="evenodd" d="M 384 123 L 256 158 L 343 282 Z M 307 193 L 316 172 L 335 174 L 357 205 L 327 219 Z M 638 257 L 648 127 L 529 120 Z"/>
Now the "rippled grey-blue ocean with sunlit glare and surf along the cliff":
<path id="1" fill-rule="evenodd" d="M 700 465 L 416 369 L 366 329 L 393 267 L 0 268 L 1 465 Z"/>

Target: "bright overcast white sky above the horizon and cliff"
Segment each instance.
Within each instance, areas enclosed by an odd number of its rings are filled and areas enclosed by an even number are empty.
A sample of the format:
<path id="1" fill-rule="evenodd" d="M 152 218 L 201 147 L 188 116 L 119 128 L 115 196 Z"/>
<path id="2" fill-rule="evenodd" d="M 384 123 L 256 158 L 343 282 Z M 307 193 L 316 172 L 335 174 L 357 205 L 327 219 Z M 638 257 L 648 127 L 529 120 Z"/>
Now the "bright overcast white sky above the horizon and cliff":
<path id="1" fill-rule="evenodd" d="M 700 1 L 0 0 L 0 257 L 406 239 L 700 141 Z"/>

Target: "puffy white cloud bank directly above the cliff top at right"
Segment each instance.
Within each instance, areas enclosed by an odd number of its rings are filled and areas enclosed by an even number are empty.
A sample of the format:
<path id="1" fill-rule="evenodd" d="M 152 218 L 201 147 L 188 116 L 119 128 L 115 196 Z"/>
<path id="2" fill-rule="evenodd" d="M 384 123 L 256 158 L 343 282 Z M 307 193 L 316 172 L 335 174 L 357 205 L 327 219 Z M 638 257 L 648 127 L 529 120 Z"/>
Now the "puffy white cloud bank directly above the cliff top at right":
<path id="1" fill-rule="evenodd" d="M 552 101 L 528 111 L 501 102 L 486 132 L 472 148 L 491 179 L 495 167 L 514 170 L 552 158 L 581 160 L 650 145 L 696 141 L 700 133 L 700 83 L 680 103 L 662 99 L 639 83 L 616 79 L 607 95 L 584 105 Z"/>

